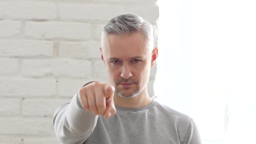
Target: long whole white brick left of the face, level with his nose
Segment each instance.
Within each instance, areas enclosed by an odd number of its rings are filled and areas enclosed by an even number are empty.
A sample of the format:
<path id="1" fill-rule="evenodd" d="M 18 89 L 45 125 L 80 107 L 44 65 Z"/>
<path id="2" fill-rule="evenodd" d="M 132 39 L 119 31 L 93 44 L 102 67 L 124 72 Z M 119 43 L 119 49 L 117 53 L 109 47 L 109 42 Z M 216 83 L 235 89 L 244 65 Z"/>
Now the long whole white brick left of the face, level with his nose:
<path id="1" fill-rule="evenodd" d="M 91 62 L 71 59 L 23 60 L 23 74 L 27 76 L 88 77 Z"/>

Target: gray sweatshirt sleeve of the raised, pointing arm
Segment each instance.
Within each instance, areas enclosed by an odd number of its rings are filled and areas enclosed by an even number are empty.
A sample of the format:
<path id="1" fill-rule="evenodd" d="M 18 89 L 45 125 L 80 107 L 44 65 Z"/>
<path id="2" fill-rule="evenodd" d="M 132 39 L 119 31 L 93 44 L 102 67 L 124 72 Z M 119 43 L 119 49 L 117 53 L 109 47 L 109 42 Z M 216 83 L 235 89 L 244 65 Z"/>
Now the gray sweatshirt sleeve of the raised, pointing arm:
<path id="1" fill-rule="evenodd" d="M 79 92 L 53 115 L 55 134 L 61 144 L 82 144 L 96 126 L 98 115 L 82 108 L 78 96 Z"/>

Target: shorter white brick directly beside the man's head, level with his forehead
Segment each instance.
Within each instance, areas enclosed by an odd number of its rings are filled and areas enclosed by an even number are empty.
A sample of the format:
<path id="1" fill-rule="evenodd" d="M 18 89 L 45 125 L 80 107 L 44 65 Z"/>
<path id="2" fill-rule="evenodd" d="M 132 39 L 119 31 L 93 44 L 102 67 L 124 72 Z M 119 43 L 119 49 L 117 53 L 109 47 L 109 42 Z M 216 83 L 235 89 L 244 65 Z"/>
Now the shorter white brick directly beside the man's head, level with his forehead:
<path id="1" fill-rule="evenodd" d="M 62 42 L 59 46 L 59 56 L 76 58 L 100 58 L 99 42 Z"/>

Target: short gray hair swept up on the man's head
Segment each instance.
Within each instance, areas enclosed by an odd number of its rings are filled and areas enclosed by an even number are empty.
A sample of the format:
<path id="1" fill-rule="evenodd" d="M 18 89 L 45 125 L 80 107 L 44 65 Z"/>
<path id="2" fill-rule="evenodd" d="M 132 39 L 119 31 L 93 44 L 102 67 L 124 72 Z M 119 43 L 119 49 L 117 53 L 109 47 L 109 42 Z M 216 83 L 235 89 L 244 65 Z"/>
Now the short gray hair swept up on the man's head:
<path id="1" fill-rule="evenodd" d="M 102 47 L 108 34 L 124 36 L 126 34 L 142 33 L 147 39 L 150 52 L 154 48 L 154 32 L 153 26 L 147 20 L 142 19 L 135 14 L 123 14 L 112 18 L 102 29 Z"/>

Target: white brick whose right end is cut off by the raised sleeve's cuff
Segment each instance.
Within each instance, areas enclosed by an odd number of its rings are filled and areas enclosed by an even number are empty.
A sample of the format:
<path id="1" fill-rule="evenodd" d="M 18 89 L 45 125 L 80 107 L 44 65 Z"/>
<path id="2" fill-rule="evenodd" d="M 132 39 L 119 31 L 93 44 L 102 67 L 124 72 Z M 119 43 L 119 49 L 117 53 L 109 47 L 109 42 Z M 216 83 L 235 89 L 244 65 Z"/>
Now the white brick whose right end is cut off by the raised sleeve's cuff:
<path id="1" fill-rule="evenodd" d="M 54 111 L 70 99 L 25 99 L 23 115 L 53 116 Z"/>

